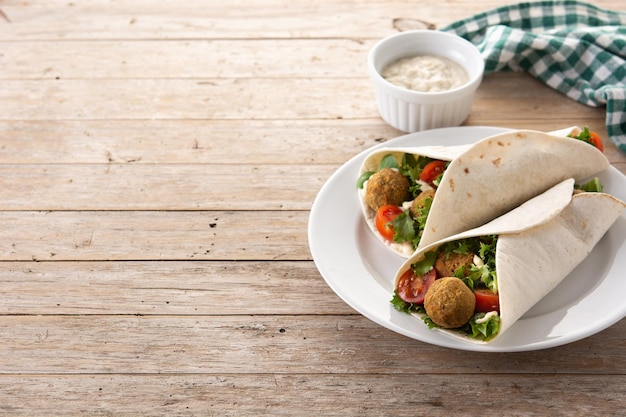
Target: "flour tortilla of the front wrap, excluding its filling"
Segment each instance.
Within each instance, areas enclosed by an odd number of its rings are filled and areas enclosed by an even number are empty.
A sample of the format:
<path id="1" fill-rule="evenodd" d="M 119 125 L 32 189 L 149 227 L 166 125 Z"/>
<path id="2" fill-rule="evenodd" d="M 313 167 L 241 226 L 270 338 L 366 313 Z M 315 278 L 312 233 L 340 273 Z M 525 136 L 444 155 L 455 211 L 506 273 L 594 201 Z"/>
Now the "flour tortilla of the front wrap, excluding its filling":
<path id="1" fill-rule="evenodd" d="M 394 288 L 402 274 L 426 252 L 467 237 L 498 235 L 498 334 L 484 342 L 454 329 L 437 329 L 473 343 L 492 342 L 563 281 L 626 208 L 623 201 L 606 193 L 572 196 L 573 184 L 573 179 L 565 180 L 483 226 L 417 250 L 398 270 Z"/>

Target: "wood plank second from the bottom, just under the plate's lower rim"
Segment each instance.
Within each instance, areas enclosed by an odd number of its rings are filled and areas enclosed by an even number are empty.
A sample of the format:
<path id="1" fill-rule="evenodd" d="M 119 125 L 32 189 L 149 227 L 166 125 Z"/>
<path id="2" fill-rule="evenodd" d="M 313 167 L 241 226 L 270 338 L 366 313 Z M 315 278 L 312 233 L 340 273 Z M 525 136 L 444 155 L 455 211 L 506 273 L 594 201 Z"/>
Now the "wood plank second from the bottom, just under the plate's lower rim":
<path id="1" fill-rule="evenodd" d="M 359 315 L 258 316 L 252 311 L 237 316 L 2 315 L 0 369 L 3 375 L 626 376 L 625 320 L 552 349 L 470 354 L 409 339 Z"/>

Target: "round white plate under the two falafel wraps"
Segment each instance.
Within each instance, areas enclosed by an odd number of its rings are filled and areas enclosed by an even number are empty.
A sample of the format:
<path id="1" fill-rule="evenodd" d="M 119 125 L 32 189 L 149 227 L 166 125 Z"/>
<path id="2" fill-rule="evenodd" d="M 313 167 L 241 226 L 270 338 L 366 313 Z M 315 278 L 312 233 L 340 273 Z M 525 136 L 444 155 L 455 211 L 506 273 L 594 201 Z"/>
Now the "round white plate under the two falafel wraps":
<path id="1" fill-rule="evenodd" d="M 339 168 L 320 190 L 309 218 L 309 246 L 328 285 L 348 305 L 394 332 L 450 348 L 514 352 L 545 349 L 595 334 L 626 316 L 626 214 L 591 254 L 550 294 L 490 344 L 473 344 L 429 330 L 389 302 L 392 280 L 403 258 L 391 253 L 368 229 L 357 199 L 363 159 L 383 147 L 464 145 L 505 131 L 454 127 L 400 136 L 368 149 Z M 614 167 L 598 175 L 605 191 L 626 201 L 626 177 Z"/>

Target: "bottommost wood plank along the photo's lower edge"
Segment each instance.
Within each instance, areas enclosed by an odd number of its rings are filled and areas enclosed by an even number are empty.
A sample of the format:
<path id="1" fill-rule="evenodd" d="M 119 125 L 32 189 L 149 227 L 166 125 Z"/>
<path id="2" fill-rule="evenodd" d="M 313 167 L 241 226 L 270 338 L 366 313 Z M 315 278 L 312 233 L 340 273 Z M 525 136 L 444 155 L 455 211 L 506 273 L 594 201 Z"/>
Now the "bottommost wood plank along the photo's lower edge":
<path id="1" fill-rule="evenodd" d="M 294 416 L 303 404 L 315 416 L 622 417 L 626 408 L 623 375 L 25 375 L 0 376 L 0 390 L 0 411 L 29 417 Z"/>

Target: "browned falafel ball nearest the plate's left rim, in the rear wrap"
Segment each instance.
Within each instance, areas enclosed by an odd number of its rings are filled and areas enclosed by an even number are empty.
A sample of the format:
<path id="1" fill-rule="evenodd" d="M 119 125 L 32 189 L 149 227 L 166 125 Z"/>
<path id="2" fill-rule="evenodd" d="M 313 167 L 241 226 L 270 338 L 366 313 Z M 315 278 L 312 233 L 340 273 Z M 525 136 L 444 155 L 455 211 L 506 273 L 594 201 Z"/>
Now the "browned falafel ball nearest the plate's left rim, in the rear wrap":
<path id="1" fill-rule="evenodd" d="M 383 168 L 367 181 L 365 202 L 374 211 L 387 204 L 401 206 L 411 198 L 409 180 L 398 171 Z"/>

